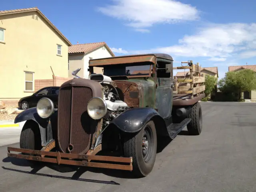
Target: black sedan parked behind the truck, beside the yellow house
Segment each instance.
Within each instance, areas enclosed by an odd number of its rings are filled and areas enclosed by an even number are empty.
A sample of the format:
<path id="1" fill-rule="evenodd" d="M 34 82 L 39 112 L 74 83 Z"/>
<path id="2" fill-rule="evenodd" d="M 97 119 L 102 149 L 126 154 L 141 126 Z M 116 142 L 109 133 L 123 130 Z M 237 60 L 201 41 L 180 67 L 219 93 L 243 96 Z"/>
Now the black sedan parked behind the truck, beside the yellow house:
<path id="1" fill-rule="evenodd" d="M 54 107 L 57 108 L 58 105 L 58 95 L 59 95 L 60 87 L 51 86 L 51 87 L 44 87 L 31 96 L 23 97 L 19 100 L 18 106 L 22 110 L 26 110 L 28 108 L 36 107 L 37 102 L 43 98 L 47 97 L 51 99 L 54 103 Z"/>

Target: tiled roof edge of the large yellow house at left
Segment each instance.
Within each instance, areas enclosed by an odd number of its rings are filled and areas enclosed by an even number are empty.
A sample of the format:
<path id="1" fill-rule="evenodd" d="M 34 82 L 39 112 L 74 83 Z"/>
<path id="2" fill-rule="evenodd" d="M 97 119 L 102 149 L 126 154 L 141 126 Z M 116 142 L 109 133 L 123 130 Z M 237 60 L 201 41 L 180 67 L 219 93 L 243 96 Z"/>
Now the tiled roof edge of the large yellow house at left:
<path id="1" fill-rule="evenodd" d="M 42 14 L 42 12 L 37 8 L 37 7 L 33 7 L 33 8 L 24 8 L 24 9 L 14 9 L 14 10 L 0 10 L 0 16 L 2 15 L 8 15 L 8 14 L 17 14 L 17 13 L 24 13 L 24 12 L 37 12 L 42 18 L 44 18 L 44 20 L 46 20 L 46 22 L 48 22 L 48 24 L 54 29 L 56 30 L 56 32 L 68 43 L 68 46 L 71 46 L 71 42 L 56 28 L 56 26 L 54 26 L 54 24 L 52 24 L 52 22 L 50 22 L 50 20 L 48 20 L 48 18 L 46 18 L 46 16 L 44 16 L 44 14 Z"/>

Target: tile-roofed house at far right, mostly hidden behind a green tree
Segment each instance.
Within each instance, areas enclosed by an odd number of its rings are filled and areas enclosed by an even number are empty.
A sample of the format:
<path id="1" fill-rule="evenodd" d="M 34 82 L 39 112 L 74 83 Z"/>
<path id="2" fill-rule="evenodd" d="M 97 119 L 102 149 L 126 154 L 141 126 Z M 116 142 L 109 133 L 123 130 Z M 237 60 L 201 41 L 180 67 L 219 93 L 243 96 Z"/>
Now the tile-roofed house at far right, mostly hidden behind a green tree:
<path id="1" fill-rule="evenodd" d="M 256 65 L 240 65 L 240 66 L 228 66 L 228 72 L 230 71 L 240 71 L 244 69 L 250 69 L 256 72 Z M 250 92 L 245 91 L 242 94 L 243 99 L 251 100 L 256 102 L 256 90 L 251 90 Z"/>

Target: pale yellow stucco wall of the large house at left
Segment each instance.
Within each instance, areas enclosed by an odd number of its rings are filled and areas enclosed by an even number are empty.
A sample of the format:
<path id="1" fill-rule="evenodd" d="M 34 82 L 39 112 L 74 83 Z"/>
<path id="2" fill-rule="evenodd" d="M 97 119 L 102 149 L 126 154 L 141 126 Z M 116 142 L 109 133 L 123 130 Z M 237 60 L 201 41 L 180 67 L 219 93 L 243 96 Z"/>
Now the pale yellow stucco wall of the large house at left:
<path id="1" fill-rule="evenodd" d="M 51 66 L 54 75 L 68 77 L 68 44 L 36 12 L 0 16 L 0 27 L 6 29 L 0 43 L 0 99 L 32 94 L 24 91 L 24 71 L 33 72 L 33 80 L 52 79 Z"/>

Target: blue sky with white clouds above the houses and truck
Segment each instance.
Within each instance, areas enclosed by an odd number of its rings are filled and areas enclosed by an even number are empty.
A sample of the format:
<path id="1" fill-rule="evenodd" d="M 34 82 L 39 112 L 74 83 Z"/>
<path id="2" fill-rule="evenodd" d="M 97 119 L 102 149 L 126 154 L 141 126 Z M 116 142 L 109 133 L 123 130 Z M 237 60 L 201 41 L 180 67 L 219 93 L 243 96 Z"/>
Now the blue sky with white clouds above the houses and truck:
<path id="1" fill-rule="evenodd" d="M 106 42 L 116 56 L 163 52 L 174 66 L 255 64 L 256 1 L 3 0 L 0 10 L 37 6 L 72 44 Z"/>

